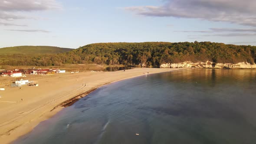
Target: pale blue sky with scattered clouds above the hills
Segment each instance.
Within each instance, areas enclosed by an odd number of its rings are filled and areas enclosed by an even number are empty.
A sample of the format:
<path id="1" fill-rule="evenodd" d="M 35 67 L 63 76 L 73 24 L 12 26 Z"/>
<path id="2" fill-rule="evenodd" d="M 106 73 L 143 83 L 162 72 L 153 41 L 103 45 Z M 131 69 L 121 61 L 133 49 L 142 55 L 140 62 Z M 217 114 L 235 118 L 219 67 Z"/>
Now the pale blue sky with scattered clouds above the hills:
<path id="1" fill-rule="evenodd" d="M 0 47 L 202 42 L 256 45 L 256 0 L 0 0 Z"/>

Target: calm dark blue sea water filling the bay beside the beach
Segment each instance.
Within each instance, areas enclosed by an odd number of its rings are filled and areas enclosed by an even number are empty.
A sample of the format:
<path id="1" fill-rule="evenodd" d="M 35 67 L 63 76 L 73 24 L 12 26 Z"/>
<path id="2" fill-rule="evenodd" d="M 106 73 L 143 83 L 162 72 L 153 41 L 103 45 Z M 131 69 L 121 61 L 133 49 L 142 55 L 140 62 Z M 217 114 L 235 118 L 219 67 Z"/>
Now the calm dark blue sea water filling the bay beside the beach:
<path id="1" fill-rule="evenodd" d="M 256 71 L 189 69 L 115 82 L 14 144 L 256 144 Z"/>

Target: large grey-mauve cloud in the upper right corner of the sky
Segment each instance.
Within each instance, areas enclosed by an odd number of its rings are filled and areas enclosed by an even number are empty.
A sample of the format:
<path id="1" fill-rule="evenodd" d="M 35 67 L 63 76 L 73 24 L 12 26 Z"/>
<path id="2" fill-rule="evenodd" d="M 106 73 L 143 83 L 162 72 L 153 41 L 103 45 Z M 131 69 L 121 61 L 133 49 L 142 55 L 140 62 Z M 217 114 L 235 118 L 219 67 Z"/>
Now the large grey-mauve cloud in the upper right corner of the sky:
<path id="1" fill-rule="evenodd" d="M 125 7 L 142 16 L 196 18 L 256 26 L 256 0 L 163 0 L 161 6 Z"/>

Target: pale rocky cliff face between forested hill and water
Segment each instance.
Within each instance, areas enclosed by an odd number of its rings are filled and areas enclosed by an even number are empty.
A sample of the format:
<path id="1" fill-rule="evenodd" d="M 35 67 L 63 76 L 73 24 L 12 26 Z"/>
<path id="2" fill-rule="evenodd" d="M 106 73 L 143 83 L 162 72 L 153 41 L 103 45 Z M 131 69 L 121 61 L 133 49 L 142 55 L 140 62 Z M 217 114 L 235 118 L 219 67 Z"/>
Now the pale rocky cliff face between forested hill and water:
<path id="1" fill-rule="evenodd" d="M 256 65 L 248 62 L 232 63 L 215 63 L 215 62 L 180 62 L 161 64 L 161 68 L 215 68 L 215 69 L 256 69 Z"/>

